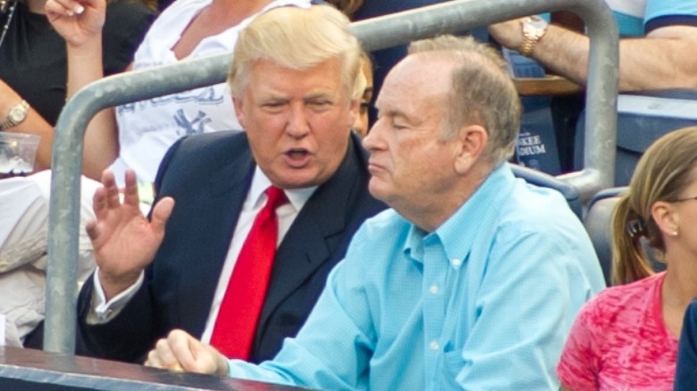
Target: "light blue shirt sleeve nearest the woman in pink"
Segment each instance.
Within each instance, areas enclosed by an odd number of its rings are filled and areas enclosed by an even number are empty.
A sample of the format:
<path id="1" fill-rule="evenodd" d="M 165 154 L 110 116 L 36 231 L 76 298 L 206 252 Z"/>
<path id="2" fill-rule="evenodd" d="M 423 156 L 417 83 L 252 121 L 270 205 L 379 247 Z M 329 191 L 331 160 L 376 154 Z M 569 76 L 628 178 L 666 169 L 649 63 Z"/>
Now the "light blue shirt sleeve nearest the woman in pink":
<path id="1" fill-rule="evenodd" d="M 507 389 L 512 381 L 516 389 L 559 387 L 554 368 L 575 312 L 588 298 L 573 297 L 585 294 L 563 287 L 592 286 L 597 292 L 603 284 L 588 281 L 575 266 L 592 249 L 566 242 L 558 230 L 542 224 L 502 227 L 478 292 L 469 292 L 477 296 L 478 317 L 462 348 L 457 378 L 467 390 Z M 574 234 L 573 227 L 567 234 Z"/>

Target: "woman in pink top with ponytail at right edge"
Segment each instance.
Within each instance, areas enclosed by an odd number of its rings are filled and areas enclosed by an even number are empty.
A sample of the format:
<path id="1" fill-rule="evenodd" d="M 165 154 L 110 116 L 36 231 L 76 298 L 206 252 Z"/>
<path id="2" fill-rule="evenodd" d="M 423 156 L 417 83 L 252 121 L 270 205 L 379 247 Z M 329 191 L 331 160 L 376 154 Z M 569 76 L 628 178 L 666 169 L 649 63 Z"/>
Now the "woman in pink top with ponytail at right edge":
<path id="1" fill-rule="evenodd" d="M 558 364 L 563 390 L 670 390 L 697 296 L 697 128 L 660 137 L 613 215 L 613 282 L 584 305 Z M 655 274 L 648 241 L 665 272 Z"/>

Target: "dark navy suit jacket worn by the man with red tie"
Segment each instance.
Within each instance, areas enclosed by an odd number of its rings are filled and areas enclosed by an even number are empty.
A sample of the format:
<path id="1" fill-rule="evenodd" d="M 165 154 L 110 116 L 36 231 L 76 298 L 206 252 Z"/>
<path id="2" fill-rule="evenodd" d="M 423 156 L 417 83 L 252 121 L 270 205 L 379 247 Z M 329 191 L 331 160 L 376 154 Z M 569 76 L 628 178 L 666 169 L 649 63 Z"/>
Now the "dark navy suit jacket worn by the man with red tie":
<path id="1" fill-rule="evenodd" d="M 293 337 L 353 234 L 385 208 L 369 195 L 366 154 L 351 136 L 334 176 L 315 190 L 276 252 L 250 361 L 273 358 Z M 201 337 L 218 276 L 255 170 L 245 133 L 185 137 L 165 155 L 157 196 L 176 201 L 146 280 L 113 320 L 85 322 L 92 279 L 78 304 L 78 354 L 138 362 L 172 329 Z"/>

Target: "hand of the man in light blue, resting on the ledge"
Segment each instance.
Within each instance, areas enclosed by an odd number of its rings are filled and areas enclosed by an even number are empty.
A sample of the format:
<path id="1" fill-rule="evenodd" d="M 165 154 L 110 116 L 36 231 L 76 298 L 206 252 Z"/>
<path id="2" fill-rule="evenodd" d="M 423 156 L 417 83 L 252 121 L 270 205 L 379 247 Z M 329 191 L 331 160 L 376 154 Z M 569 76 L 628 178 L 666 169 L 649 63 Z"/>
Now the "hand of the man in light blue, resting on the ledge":
<path id="1" fill-rule="evenodd" d="M 145 364 L 177 372 L 220 376 L 228 372 L 228 361 L 223 354 L 179 329 L 172 330 L 166 338 L 157 341 L 155 349 L 147 354 Z"/>

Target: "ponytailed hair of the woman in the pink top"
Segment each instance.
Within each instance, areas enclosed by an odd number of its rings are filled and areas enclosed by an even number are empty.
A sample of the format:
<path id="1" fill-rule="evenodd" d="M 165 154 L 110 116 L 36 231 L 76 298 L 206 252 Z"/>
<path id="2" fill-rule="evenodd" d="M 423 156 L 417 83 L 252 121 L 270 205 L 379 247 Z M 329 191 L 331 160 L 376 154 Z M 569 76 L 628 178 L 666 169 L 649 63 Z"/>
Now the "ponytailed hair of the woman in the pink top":
<path id="1" fill-rule="evenodd" d="M 653 274 L 642 247 L 642 237 L 657 251 L 666 252 L 663 236 L 651 216 L 659 201 L 674 201 L 690 184 L 697 167 L 697 127 L 672 131 L 654 142 L 639 160 L 612 215 L 612 282 L 626 284 Z"/>

